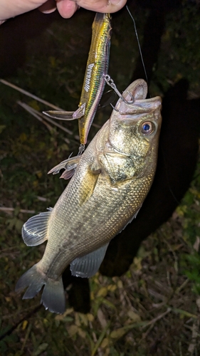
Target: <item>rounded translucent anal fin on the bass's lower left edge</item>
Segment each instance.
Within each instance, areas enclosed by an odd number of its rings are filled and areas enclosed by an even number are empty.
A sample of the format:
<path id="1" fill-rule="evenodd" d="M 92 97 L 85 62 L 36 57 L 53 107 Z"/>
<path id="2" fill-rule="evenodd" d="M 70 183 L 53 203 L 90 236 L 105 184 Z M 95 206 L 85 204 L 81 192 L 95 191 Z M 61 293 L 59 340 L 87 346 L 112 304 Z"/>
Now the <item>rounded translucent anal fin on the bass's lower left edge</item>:
<path id="1" fill-rule="evenodd" d="M 37 246 L 48 239 L 48 219 L 51 216 L 50 211 L 45 211 L 32 216 L 22 227 L 23 241 L 27 246 Z"/>

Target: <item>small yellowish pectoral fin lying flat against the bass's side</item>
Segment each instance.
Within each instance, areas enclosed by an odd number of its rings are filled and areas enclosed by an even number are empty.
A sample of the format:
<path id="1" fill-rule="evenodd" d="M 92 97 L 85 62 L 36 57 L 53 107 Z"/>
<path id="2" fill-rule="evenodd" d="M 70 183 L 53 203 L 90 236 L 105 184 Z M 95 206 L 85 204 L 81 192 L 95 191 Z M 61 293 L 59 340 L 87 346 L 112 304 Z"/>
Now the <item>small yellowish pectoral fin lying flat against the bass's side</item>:
<path id="1" fill-rule="evenodd" d="M 83 179 L 82 184 L 80 184 L 80 196 L 79 196 L 79 204 L 82 206 L 88 199 L 93 195 L 95 190 L 95 186 L 98 182 L 98 177 L 100 174 L 100 169 L 97 171 L 93 171 L 90 168 L 88 172 L 85 174 L 85 179 Z"/>

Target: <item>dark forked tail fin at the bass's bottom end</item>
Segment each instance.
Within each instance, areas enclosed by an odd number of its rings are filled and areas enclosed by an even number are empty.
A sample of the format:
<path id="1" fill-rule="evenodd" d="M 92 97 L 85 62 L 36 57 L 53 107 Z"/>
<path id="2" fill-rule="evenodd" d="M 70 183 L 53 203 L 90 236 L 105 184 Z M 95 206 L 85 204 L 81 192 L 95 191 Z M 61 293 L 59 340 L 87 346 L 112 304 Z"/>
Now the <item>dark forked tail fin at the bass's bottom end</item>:
<path id="1" fill-rule="evenodd" d="M 16 283 L 16 291 L 28 287 L 23 299 L 31 299 L 43 286 L 41 303 L 49 311 L 63 314 L 65 312 L 65 292 L 62 277 L 58 281 L 48 278 L 38 270 L 37 264 L 19 278 Z"/>

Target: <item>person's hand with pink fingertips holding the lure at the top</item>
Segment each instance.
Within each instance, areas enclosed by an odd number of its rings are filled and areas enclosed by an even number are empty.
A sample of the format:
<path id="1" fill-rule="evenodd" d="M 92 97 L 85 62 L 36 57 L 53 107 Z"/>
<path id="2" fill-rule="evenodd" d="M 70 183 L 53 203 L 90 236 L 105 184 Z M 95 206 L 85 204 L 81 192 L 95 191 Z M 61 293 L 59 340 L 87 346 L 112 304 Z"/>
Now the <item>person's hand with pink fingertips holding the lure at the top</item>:
<path id="1" fill-rule="evenodd" d="M 125 6 L 127 0 L 0 0 L 0 24 L 11 17 L 33 9 L 48 14 L 58 9 L 65 19 L 73 16 L 79 7 L 97 12 L 116 12 Z"/>

